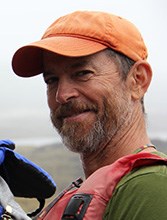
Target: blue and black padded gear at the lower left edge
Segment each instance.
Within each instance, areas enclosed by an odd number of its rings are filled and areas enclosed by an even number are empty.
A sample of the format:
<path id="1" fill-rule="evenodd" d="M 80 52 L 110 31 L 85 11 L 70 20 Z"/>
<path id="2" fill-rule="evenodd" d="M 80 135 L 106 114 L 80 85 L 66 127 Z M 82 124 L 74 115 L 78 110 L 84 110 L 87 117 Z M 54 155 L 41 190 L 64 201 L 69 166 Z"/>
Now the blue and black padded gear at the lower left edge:
<path id="1" fill-rule="evenodd" d="M 56 184 L 42 168 L 14 152 L 14 143 L 0 141 L 0 176 L 17 197 L 49 198 L 55 193 Z"/>

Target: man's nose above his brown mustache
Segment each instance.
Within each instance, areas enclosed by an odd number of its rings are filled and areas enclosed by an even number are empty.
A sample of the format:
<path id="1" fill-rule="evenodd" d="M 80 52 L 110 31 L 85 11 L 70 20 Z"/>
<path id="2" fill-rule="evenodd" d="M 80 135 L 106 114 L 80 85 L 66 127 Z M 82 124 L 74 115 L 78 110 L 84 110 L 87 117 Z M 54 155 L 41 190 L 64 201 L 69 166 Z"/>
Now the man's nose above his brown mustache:
<path id="1" fill-rule="evenodd" d="M 56 91 L 56 102 L 65 104 L 73 98 L 77 98 L 79 92 L 76 84 L 70 80 L 59 80 L 58 88 Z"/>

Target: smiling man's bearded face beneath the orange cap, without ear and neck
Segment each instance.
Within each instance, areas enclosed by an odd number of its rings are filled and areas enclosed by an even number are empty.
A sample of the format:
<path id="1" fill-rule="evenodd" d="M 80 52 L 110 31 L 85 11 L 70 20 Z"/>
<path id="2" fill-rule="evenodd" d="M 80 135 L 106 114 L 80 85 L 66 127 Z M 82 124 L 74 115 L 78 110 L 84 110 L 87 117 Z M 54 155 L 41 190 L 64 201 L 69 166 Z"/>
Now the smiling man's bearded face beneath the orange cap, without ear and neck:
<path id="1" fill-rule="evenodd" d="M 98 150 L 112 141 L 131 117 L 131 96 L 105 51 L 70 58 L 44 53 L 51 120 L 72 151 Z"/>

